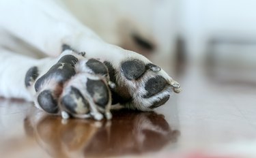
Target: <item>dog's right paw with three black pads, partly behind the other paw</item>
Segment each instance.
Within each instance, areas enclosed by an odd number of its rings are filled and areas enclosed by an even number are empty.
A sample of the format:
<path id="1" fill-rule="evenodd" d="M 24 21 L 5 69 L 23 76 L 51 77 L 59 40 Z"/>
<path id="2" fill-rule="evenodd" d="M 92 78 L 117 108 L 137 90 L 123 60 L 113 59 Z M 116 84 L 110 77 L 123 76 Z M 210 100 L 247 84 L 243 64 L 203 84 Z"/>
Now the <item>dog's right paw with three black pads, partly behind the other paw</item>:
<path id="1" fill-rule="evenodd" d="M 110 80 L 116 84 L 112 89 L 113 103 L 152 110 L 165 104 L 173 91 L 180 93 L 180 84 L 142 55 L 130 51 L 119 55 L 123 56 L 119 61 L 104 61 Z"/>

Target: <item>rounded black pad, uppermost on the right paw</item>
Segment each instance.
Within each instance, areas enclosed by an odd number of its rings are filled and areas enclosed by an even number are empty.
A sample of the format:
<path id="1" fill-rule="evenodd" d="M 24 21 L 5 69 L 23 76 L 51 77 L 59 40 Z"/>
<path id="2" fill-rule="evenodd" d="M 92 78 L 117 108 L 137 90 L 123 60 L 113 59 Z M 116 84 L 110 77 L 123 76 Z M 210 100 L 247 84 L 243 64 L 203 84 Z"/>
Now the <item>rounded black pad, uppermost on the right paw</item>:
<path id="1" fill-rule="evenodd" d="M 137 80 L 146 70 L 145 64 L 139 60 L 126 61 L 121 67 L 128 80 Z"/>

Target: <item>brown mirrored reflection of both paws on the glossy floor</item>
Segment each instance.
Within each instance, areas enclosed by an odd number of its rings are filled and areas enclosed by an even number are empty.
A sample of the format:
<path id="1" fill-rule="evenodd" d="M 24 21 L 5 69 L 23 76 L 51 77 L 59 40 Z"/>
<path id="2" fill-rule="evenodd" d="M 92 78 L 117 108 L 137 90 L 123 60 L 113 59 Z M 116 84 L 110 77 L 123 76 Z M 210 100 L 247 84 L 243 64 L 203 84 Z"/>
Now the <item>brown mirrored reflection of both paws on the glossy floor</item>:
<path id="1" fill-rule="evenodd" d="M 176 142 L 173 130 L 161 114 L 122 110 L 111 121 L 70 119 L 42 115 L 27 116 L 28 136 L 35 138 L 51 157 L 113 157 L 159 151 Z"/>

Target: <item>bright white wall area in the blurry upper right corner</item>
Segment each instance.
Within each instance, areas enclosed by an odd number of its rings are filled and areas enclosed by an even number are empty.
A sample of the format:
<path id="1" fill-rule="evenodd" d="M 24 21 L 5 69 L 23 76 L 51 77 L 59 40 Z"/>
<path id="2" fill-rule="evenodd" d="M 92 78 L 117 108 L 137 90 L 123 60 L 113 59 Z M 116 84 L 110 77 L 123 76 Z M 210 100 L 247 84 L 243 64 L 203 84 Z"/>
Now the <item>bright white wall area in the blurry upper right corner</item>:
<path id="1" fill-rule="evenodd" d="M 186 37 L 190 57 L 201 57 L 213 36 L 256 39 L 254 0 L 181 0 L 179 8 L 180 32 Z"/>

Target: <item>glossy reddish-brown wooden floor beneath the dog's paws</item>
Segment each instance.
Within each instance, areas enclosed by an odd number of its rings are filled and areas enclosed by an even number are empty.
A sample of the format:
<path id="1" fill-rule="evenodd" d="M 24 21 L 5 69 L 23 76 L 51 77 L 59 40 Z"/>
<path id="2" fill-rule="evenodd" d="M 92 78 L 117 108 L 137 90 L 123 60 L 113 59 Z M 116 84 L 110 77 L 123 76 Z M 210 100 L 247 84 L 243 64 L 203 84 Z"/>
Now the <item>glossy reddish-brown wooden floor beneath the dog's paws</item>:
<path id="1" fill-rule="evenodd" d="M 183 92 L 154 112 L 61 120 L 0 99 L 0 157 L 255 157 L 256 87 L 221 84 L 187 65 Z M 168 69 L 168 67 L 165 67 Z"/>

